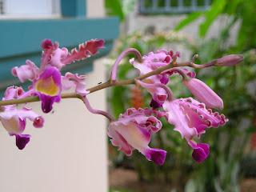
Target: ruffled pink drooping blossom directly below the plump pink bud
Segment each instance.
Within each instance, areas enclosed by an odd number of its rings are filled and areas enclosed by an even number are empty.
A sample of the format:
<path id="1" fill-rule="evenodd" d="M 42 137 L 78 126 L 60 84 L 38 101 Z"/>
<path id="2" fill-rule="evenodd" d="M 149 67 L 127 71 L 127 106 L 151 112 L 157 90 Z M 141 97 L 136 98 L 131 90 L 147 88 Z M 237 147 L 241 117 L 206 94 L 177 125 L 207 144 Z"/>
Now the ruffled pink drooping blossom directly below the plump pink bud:
<path id="1" fill-rule="evenodd" d="M 182 138 L 186 138 L 190 146 L 194 148 L 192 156 L 197 162 L 202 162 L 208 156 L 209 146 L 196 144 L 192 142 L 192 139 L 200 138 L 200 135 L 206 132 L 206 128 L 217 128 L 228 121 L 224 114 L 207 110 L 205 104 L 193 98 L 167 100 L 163 104 L 163 109 L 166 111 L 168 122 L 174 125 L 174 130 L 177 130 Z"/>

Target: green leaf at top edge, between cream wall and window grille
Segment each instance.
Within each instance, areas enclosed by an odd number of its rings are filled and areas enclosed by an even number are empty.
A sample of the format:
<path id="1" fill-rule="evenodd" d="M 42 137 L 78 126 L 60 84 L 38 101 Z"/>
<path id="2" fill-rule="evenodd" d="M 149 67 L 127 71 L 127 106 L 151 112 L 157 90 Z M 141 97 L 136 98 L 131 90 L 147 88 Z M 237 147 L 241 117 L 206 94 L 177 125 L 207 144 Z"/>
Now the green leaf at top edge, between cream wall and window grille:
<path id="1" fill-rule="evenodd" d="M 124 19 L 122 5 L 119 0 L 105 0 L 105 8 L 108 15 L 117 15 L 121 21 Z"/>

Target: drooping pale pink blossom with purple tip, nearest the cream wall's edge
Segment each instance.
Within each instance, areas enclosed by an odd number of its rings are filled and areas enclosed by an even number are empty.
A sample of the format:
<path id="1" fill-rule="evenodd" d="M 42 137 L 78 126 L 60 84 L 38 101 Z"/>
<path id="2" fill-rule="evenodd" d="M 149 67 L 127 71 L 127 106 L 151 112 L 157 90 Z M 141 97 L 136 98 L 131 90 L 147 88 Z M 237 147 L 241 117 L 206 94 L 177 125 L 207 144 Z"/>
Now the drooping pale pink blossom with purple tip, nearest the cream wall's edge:
<path id="1" fill-rule="evenodd" d="M 155 124 L 155 126 L 154 126 Z M 132 150 L 136 149 L 145 157 L 162 165 L 166 158 L 166 151 L 150 148 L 151 133 L 157 132 L 162 127 L 154 116 L 146 116 L 143 110 L 130 108 L 125 114 L 120 114 L 118 120 L 110 122 L 108 135 L 114 146 L 119 146 L 126 155 L 131 155 Z"/>

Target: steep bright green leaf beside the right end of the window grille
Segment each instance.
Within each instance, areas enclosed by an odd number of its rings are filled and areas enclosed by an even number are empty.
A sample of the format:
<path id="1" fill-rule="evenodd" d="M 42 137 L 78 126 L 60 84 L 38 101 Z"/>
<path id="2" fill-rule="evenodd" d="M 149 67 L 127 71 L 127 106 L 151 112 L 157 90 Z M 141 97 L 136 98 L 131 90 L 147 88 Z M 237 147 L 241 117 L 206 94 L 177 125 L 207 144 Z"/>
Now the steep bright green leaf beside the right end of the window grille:
<path id="1" fill-rule="evenodd" d="M 204 37 L 215 18 L 222 13 L 222 10 L 226 6 L 226 0 L 215 0 L 210 10 L 206 11 L 205 21 L 199 26 L 199 37 Z"/>

